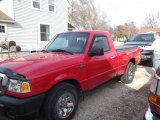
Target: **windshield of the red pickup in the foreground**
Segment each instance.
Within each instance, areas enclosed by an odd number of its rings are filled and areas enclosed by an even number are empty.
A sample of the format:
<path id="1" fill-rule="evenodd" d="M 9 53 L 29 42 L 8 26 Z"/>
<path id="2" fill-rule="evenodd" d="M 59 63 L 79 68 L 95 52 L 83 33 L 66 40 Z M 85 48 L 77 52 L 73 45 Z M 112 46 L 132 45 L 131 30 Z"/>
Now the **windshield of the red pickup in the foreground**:
<path id="1" fill-rule="evenodd" d="M 82 53 L 89 37 L 88 32 L 61 33 L 46 46 L 48 52 Z"/>

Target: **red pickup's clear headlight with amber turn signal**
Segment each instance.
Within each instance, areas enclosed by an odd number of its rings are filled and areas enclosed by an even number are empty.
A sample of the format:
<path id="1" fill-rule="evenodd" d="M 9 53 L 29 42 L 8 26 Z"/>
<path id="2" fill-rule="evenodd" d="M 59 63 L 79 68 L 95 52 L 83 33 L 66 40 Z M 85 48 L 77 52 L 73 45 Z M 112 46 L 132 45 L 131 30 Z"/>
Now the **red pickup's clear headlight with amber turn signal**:
<path id="1" fill-rule="evenodd" d="M 28 93 L 31 92 L 31 85 L 29 81 L 9 79 L 8 91 L 15 93 Z"/>

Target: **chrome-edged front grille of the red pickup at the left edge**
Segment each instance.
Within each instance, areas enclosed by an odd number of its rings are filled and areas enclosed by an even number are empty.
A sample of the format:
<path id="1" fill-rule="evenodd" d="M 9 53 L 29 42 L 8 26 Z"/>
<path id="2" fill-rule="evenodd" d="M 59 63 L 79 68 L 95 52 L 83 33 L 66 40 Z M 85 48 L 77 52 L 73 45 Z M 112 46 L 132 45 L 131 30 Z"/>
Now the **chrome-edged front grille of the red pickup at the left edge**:
<path id="1" fill-rule="evenodd" d="M 5 74 L 0 73 L 0 95 L 4 94 L 8 80 L 9 78 Z"/>

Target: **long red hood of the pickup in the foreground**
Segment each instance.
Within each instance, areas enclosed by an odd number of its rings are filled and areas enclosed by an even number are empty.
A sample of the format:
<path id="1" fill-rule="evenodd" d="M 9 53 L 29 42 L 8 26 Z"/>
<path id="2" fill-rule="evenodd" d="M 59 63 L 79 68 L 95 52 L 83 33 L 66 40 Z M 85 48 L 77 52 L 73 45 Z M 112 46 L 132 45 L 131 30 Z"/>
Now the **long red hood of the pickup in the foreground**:
<path id="1" fill-rule="evenodd" d="M 68 53 L 32 53 L 14 59 L 5 60 L 0 63 L 1 67 L 8 68 L 15 73 L 26 77 L 41 75 L 54 70 L 62 69 L 79 63 L 83 57 L 80 54 L 70 55 Z"/>

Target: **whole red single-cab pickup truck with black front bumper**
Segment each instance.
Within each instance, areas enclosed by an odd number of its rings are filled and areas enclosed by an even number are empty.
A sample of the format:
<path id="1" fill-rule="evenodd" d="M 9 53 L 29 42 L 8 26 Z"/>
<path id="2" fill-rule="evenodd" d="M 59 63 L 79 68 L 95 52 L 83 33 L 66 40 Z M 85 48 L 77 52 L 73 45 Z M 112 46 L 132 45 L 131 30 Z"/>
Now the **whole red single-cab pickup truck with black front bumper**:
<path id="1" fill-rule="evenodd" d="M 133 81 L 141 49 L 115 48 L 106 31 L 56 35 L 41 52 L 0 63 L 0 111 L 10 119 L 70 120 L 83 91 Z"/>

